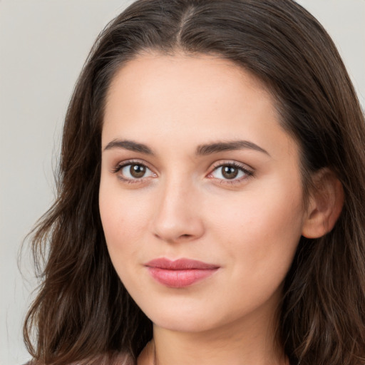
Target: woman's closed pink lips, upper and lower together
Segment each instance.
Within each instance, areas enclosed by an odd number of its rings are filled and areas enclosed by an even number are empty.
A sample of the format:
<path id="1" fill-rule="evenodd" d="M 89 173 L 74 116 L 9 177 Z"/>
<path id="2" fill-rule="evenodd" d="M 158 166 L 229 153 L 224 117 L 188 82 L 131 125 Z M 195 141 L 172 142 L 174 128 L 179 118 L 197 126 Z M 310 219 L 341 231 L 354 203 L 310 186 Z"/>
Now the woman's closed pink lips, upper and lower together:
<path id="1" fill-rule="evenodd" d="M 167 287 L 183 288 L 214 274 L 219 266 L 195 259 L 153 259 L 145 264 L 153 279 Z"/>

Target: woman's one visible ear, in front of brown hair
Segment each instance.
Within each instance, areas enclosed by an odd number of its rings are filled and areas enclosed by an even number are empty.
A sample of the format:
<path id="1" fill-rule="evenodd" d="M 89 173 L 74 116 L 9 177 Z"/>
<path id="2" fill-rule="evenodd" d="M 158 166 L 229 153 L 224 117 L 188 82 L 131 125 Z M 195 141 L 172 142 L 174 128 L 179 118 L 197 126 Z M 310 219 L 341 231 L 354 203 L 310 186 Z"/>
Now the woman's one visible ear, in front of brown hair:
<path id="1" fill-rule="evenodd" d="M 334 173 L 325 168 L 314 175 L 302 235 L 319 238 L 334 227 L 344 205 L 344 189 Z"/>

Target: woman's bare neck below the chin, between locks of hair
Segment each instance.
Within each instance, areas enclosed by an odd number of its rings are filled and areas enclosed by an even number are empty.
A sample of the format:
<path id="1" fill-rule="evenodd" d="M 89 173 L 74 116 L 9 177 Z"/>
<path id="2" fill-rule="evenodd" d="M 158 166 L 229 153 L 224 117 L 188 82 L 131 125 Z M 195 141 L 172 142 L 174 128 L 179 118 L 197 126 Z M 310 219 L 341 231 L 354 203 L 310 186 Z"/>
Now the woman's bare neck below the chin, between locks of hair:
<path id="1" fill-rule="evenodd" d="M 154 325 L 153 340 L 138 365 L 285 365 L 276 326 L 258 322 L 225 325 L 214 331 L 180 332 Z"/>

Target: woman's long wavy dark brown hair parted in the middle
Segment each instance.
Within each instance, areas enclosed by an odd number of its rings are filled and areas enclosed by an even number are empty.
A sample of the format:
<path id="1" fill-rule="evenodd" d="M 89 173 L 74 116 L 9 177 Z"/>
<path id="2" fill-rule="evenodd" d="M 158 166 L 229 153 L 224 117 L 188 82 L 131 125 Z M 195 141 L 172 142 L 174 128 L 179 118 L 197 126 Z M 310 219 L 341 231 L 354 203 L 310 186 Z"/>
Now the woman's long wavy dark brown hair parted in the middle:
<path id="1" fill-rule="evenodd" d="M 58 197 L 32 232 L 41 284 L 24 326 L 31 355 L 55 365 L 136 358 L 152 337 L 113 269 L 98 211 L 106 92 L 145 50 L 213 53 L 250 71 L 300 145 L 307 192 L 321 168 L 339 178 L 341 216 L 324 237 L 300 240 L 279 331 L 291 364 L 364 363 L 364 115 L 331 38 L 292 0 L 139 0 L 98 36 L 66 115 Z"/>

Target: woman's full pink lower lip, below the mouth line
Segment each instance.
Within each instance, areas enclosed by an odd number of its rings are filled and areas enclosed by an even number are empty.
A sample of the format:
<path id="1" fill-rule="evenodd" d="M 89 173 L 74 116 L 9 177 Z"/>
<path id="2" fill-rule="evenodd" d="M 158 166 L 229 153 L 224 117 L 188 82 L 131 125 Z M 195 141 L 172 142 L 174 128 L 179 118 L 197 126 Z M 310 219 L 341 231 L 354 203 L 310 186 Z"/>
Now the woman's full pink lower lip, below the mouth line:
<path id="1" fill-rule="evenodd" d="M 148 271 L 153 279 L 160 284 L 171 288 L 189 287 L 202 279 L 210 277 L 217 271 L 216 269 L 181 269 L 169 270 L 158 267 L 148 267 Z"/>

